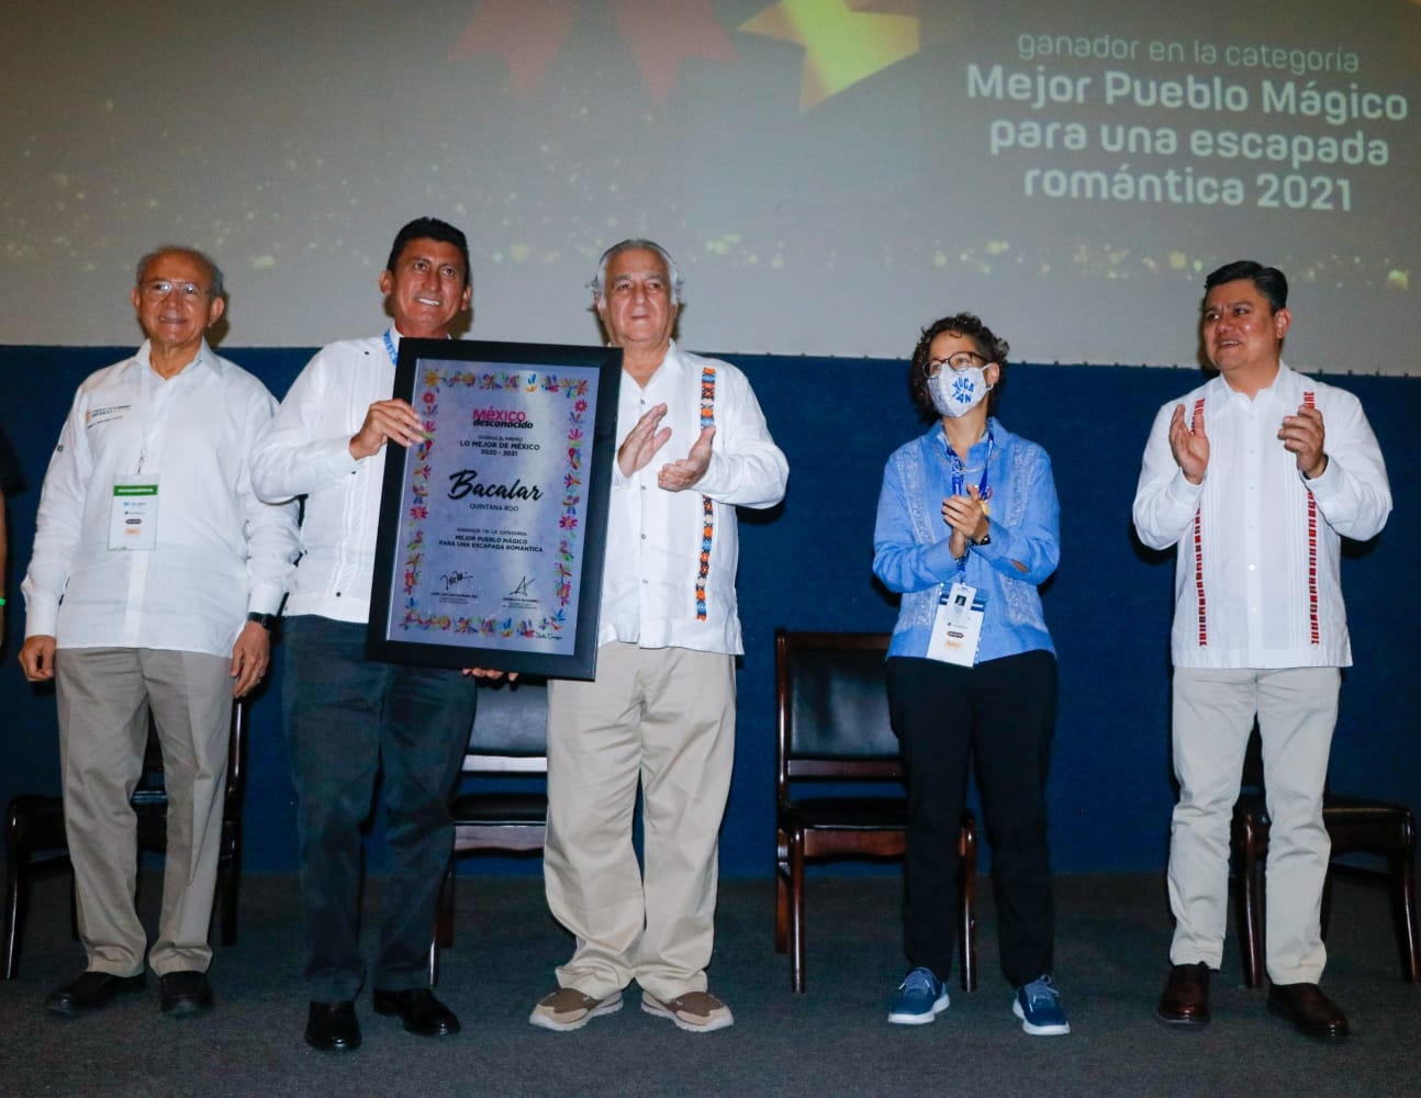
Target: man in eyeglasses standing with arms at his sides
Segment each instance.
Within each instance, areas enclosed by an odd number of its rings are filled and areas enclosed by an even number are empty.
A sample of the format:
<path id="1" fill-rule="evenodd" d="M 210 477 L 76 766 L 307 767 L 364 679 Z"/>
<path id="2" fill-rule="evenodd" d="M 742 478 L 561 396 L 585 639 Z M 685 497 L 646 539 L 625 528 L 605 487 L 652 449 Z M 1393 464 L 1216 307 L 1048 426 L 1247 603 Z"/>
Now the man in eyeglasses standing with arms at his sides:
<path id="1" fill-rule="evenodd" d="M 207 925 L 232 699 L 266 675 L 296 560 L 296 509 L 261 503 L 249 456 L 276 401 L 213 354 L 222 271 L 200 251 L 144 256 L 131 293 L 148 339 L 78 388 L 40 494 L 21 589 L 31 682 L 55 682 L 64 825 L 88 964 L 45 1006 L 88 1014 L 141 991 L 166 1014 L 212 1007 Z M 134 908 L 129 797 L 152 713 L 168 847 L 158 939 Z"/>

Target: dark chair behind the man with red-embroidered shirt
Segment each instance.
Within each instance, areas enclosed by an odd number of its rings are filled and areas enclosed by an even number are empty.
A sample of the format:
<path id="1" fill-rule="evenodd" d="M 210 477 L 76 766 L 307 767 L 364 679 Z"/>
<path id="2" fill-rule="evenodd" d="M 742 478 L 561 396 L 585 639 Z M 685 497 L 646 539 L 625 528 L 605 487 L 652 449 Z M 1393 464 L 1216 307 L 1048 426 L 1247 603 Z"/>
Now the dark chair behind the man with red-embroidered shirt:
<path id="1" fill-rule="evenodd" d="M 1243 791 L 1233 805 L 1232 847 L 1239 885 L 1238 920 L 1239 955 L 1243 983 L 1263 986 L 1263 912 L 1268 864 L 1268 835 L 1272 821 L 1263 793 L 1263 750 L 1258 727 L 1249 739 L 1243 761 Z M 1417 983 L 1415 848 L 1417 824 L 1404 804 L 1341 797 L 1323 793 L 1323 825 L 1331 839 L 1333 862 L 1323 885 L 1322 932 L 1327 936 L 1331 915 L 1331 878 L 1334 871 L 1357 872 L 1385 879 L 1391 886 L 1393 918 L 1401 953 L 1401 979 Z M 1337 862 L 1347 854 L 1376 854 L 1387 861 L 1385 869 Z"/>

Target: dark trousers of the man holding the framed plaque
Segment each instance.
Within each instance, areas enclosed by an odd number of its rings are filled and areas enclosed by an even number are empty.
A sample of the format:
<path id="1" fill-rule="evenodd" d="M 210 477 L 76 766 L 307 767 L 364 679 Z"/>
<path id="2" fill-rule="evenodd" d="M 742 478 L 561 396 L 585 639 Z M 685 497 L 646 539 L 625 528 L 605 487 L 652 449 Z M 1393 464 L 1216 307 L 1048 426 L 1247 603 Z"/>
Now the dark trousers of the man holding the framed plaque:
<path id="1" fill-rule="evenodd" d="M 374 986 L 426 987 L 435 903 L 453 848 L 449 797 L 473 724 L 475 680 L 368 661 L 364 625 L 314 615 L 287 618 L 283 646 L 310 997 L 354 999 L 365 982 L 361 827 L 377 778 L 389 875 Z"/>

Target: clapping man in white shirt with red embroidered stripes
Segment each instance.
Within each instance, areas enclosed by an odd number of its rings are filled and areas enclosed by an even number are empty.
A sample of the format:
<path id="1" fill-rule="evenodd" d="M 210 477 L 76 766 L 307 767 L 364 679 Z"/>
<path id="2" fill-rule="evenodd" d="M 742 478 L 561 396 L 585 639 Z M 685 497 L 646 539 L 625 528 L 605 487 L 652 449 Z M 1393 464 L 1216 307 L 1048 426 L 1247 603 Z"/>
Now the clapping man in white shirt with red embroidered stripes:
<path id="1" fill-rule="evenodd" d="M 1341 538 L 1381 531 L 1391 489 L 1357 398 L 1282 361 L 1283 273 L 1239 260 L 1204 286 L 1204 348 L 1218 376 L 1155 415 L 1134 504 L 1140 540 L 1175 547 L 1175 930 L 1157 1014 L 1184 1028 L 1209 1020 L 1229 822 L 1256 720 L 1272 818 L 1268 1004 L 1312 1037 L 1339 1038 L 1347 1018 L 1317 987 L 1323 784 L 1340 669 L 1351 663 L 1339 558 Z"/>

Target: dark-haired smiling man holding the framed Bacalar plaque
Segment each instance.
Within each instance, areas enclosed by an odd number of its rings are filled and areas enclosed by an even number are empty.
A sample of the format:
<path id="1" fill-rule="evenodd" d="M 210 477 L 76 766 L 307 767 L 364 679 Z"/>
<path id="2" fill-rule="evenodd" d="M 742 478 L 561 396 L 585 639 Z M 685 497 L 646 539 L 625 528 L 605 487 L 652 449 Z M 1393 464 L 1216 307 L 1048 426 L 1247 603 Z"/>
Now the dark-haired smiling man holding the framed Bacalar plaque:
<path id="1" fill-rule="evenodd" d="M 469 308 L 469 246 L 433 217 L 395 237 L 379 288 L 394 324 L 323 348 L 291 385 L 253 460 L 257 493 L 306 497 L 304 555 L 286 611 L 283 712 L 296 781 L 306 908 L 306 1040 L 360 1047 L 361 824 L 377 777 L 391 855 L 374 1006 L 421 1036 L 459 1031 L 429 990 L 435 902 L 449 864 L 449 794 L 476 705 L 475 672 L 367 659 L 377 526 L 388 443 L 422 437 L 392 399 L 402 338 L 445 339 Z"/>

